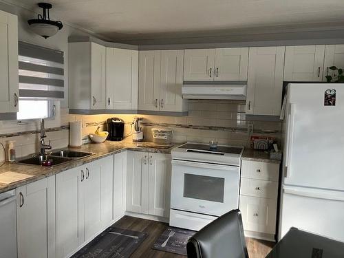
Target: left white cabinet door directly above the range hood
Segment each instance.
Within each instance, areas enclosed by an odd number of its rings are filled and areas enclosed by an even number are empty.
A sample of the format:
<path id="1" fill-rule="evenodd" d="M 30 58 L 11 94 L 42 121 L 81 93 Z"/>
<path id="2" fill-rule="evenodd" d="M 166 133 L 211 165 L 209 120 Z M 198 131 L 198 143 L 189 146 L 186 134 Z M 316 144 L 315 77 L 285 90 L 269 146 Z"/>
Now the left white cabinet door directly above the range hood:
<path id="1" fill-rule="evenodd" d="M 184 80 L 214 80 L 215 49 L 185 50 Z"/>

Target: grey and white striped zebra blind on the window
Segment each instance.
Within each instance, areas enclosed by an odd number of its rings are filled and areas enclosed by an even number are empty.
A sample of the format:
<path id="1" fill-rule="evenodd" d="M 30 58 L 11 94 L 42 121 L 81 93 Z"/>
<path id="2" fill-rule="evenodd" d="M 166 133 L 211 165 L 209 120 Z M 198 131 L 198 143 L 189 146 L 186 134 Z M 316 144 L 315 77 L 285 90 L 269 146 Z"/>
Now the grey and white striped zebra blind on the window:
<path id="1" fill-rule="evenodd" d="M 62 51 L 19 41 L 19 97 L 64 98 Z"/>

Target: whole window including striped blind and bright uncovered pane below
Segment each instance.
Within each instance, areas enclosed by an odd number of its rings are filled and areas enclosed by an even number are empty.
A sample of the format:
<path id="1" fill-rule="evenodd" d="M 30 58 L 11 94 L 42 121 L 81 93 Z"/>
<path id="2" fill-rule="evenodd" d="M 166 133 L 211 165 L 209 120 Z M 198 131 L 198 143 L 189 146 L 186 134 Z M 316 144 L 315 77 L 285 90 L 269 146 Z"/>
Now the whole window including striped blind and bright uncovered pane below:
<path id="1" fill-rule="evenodd" d="M 56 100 L 64 98 L 63 52 L 19 42 L 19 112 L 17 120 L 54 118 Z"/>

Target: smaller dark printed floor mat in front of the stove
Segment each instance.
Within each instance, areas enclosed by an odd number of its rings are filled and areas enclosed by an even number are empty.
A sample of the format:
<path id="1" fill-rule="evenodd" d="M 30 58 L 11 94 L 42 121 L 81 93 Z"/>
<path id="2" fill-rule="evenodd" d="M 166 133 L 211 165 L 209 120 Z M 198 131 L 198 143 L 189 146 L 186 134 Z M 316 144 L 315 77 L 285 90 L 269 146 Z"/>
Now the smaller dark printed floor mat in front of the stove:
<path id="1" fill-rule="evenodd" d="M 164 252 L 173 252 L 178 255 L 187 255 L 186 244 L 195 233 L 196 231 L 193 230 L 168 227 L 158 237 L 152 248 Z"/>

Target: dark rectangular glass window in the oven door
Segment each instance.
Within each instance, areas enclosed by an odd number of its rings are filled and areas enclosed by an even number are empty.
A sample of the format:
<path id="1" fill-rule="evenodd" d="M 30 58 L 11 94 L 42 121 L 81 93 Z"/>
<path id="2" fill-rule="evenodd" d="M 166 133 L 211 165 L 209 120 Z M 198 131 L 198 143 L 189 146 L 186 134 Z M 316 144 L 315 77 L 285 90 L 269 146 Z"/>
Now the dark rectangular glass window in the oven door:
<path id="1" fill-rule="evenodd" d="M 224 178 L 184 174 L 184 197 L 224 202 Z"/>

